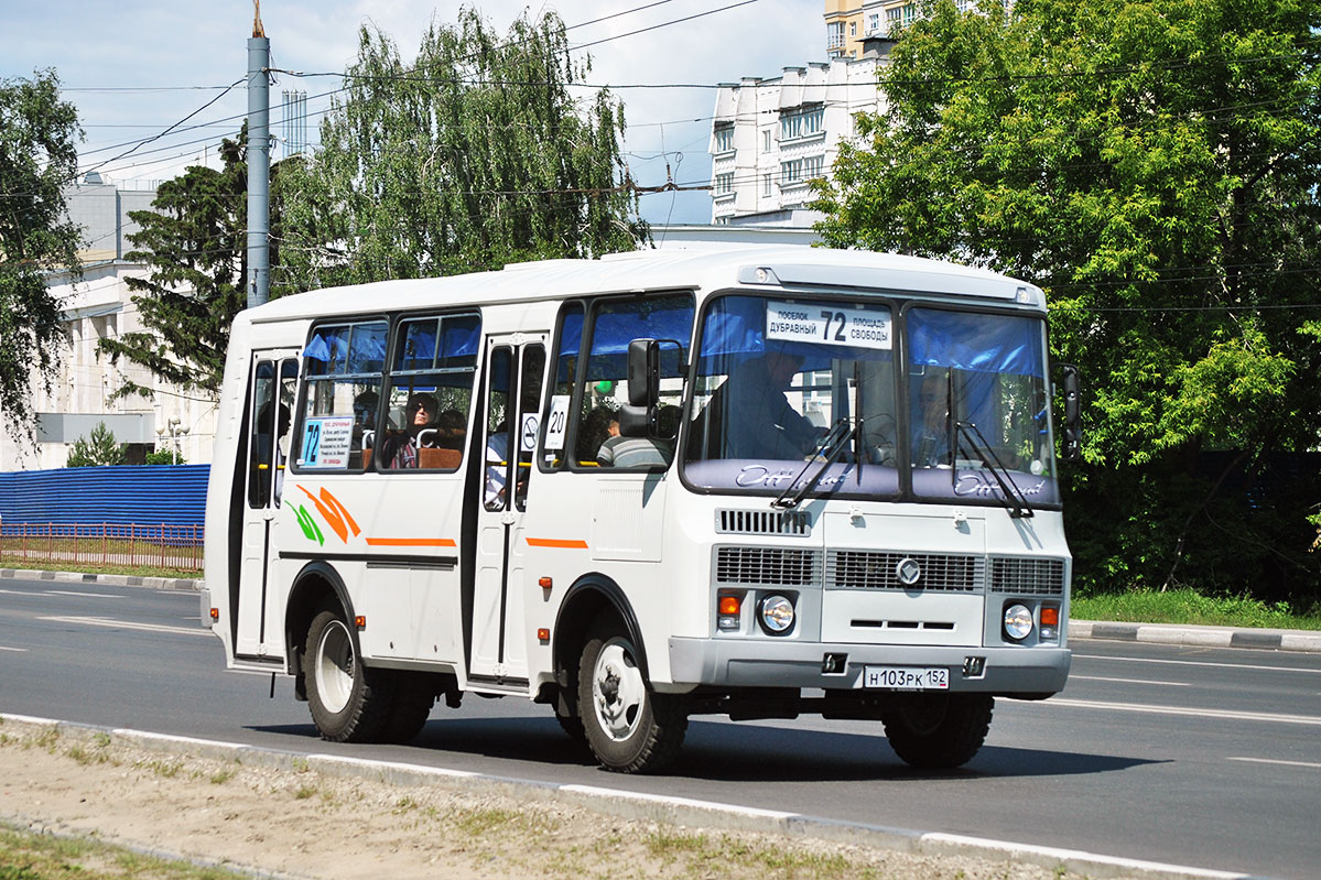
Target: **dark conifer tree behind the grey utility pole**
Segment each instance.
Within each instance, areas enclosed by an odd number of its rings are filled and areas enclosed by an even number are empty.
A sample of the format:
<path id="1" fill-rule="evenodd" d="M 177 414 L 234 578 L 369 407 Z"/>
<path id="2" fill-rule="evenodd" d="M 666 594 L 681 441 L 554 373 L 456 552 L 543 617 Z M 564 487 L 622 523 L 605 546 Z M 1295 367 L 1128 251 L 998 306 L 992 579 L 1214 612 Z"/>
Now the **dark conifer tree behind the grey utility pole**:
<path id="1" fill-rule="evenodd" d="M 143 329 L 104 338 L 96 350 L 124 358 L 184 391 L 215 394 L 225 371 L 230 324 L 247 305 L 247 126 L 238 140 L 221 141 L 222 166 L 194 165 L 161 184 L 152 210 L 131 211 L 141 229 L 129 235 L 125 259 L 145 263 L 145 279 L 128 277 L 136 291 Z M 272 185 L 280 166 L 272 168 Z M 271 260 L 279 259 L 279 210 L 272 200 Z M 125 381 L 115 396 L 153 390 Z"/>

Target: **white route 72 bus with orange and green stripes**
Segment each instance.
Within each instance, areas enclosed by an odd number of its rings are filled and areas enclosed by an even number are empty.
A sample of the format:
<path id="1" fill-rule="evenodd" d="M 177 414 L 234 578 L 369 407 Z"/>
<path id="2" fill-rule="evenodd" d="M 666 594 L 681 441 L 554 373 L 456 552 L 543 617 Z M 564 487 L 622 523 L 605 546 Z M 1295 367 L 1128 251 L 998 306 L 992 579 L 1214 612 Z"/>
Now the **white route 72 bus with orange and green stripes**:
<path id="1" fill-rule="evenodd" d="M 995 696 L 1069 673 L 1045 318 L 992 272 L 795 247 L 275 300 L 232 326 L 203 609 L 329 740 L 476 692 L 620 772 L 695 714 L 960 765 Z"/>

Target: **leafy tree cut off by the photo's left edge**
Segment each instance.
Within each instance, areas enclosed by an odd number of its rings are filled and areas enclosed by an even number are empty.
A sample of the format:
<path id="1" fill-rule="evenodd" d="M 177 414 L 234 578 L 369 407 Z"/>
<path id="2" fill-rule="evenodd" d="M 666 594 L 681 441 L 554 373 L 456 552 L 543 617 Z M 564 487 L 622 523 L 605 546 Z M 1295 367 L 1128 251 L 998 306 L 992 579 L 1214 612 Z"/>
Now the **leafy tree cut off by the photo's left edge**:
<path id="1" fill-rule="evenodd" d="M 62 192 L 77 177 L 81 137 L 53 70 L 0 79 L 0 408 L 16 433 L 32 424 L 33 369 L 49 391 L 65 345 L 46 276 L 81 277 Z"/>

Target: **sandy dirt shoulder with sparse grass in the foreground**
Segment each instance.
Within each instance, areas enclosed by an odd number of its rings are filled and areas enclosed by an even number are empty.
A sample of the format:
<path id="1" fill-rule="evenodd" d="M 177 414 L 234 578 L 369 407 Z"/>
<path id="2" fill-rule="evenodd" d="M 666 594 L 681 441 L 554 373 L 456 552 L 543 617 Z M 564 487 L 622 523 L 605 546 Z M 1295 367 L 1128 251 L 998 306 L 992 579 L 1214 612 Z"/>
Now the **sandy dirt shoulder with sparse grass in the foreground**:
<path id="1" fill-rule="evenodd" d="M 398 784 L 218 758 L 186 743 L 0 723 L 0 821 L 157 855 L 318 880 L 875 877 L 1079 880 L 1063 865 L 620 818 L 464 777 Z M 379 777 L 379 774 L 375 774 Z M 585 798 L 584 798 L 585 801 Z M 1104 871 L 1104 876 L 1143 876 Z M 1089 871 L 1086 876 L 1100 876 Z"/>

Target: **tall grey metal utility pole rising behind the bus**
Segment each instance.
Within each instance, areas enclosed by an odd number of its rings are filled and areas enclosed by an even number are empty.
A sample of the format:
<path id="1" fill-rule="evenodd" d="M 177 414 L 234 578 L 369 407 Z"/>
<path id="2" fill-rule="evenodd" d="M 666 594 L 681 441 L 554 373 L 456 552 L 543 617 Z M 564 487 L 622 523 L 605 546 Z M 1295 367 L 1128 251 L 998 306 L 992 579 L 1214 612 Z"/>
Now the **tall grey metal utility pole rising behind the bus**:
<path id="1" fill-rule="evenodd" d="M 271 41 L 262 30 L 262 3 L 252 0 L 248 40 L 248 308 L 271 299 Z"/>

